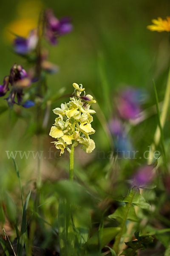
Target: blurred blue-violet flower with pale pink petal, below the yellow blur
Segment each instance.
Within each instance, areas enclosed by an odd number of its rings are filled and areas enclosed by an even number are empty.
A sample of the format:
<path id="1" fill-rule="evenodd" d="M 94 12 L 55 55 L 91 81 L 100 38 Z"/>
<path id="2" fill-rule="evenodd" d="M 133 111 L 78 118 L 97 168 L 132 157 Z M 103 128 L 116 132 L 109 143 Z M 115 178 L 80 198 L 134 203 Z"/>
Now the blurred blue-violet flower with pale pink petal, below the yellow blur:
<path id="1" fill-rule="evenodd" d="M 18 54 L 26 55 L 36 48 L 37 42 L 37 29 L 33 29 L 28 35 L 28 38 L 17 36 L 14 39 L 14 51 Z"/>

